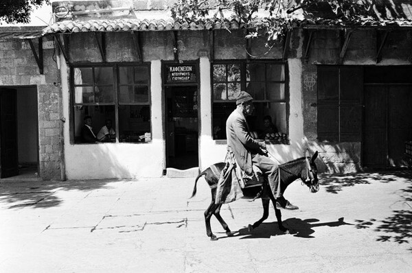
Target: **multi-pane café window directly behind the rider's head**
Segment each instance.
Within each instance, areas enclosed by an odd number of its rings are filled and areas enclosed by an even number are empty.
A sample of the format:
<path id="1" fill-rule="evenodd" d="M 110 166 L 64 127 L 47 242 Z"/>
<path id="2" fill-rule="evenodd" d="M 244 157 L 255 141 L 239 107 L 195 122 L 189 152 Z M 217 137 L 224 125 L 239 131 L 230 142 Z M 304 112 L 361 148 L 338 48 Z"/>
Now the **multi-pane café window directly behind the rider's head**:
<path id="1" fill-rule="evenodd" d="M 247 117 L 255 139 L 288 143 L 286 63 L 215 61 L 212 65 L 214 139 L 226 139 L 226 120 L 240 91 L 250 93 L 255 112 Z"/>

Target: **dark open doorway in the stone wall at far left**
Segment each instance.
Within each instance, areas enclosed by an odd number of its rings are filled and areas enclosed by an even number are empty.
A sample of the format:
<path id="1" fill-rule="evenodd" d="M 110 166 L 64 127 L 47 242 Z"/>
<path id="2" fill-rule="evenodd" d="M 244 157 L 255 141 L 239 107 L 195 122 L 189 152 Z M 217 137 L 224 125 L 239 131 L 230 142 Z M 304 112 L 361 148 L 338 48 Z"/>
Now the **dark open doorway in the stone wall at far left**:
<path id="1" fill-rule="evenodd" d="M 37 90 L 0 88 L 0 178 L 38 177 Z"/>

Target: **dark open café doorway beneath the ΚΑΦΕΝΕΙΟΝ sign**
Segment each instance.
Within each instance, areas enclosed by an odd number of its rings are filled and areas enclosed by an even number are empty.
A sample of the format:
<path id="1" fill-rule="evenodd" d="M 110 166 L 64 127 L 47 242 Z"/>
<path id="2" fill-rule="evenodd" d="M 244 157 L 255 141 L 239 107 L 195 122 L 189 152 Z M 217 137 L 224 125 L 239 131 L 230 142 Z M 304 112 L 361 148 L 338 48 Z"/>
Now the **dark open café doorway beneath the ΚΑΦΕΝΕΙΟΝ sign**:
<path id="1" fill-rule="evenodd" d="M 165 87 L 166 167 L 198 167 L 197 86 Z"/>

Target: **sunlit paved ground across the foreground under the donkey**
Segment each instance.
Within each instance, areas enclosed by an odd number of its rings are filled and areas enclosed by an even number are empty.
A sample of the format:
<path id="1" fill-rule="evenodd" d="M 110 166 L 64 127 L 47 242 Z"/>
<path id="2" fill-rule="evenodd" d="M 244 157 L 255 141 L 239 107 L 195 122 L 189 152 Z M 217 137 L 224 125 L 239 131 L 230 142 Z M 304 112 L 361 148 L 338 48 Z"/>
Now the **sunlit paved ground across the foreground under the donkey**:
<path id="1" fill-rule="evenodd" d="M 233 231 L 205 235 L 203 178 L 0 183 L 0 272 L 411 272 L 410 171 L 294 182 L 283 211 L 292 234 L 260 200 L 223 206 Z"/>

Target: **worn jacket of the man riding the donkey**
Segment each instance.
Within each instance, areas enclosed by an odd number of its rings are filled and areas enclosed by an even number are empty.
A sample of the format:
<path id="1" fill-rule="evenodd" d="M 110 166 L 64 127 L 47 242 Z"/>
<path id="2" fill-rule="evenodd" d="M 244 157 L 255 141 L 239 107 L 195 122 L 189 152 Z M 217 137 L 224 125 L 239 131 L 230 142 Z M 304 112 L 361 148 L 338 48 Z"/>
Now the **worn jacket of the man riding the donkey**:
<path id="1" fill-rule="evenodd" d="M 240 108 L 233 110 L 227 118 L 226 136 L 228 150 L 235 154 L 240 169 L 252 175 L 252 154 L 258 154 L 262 144 L 251 137 L 246 118 Z"/>

